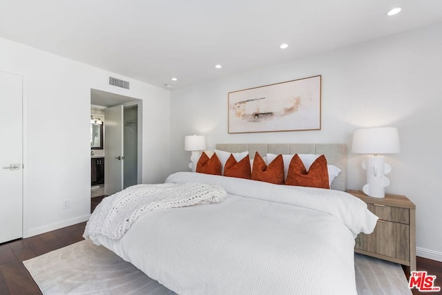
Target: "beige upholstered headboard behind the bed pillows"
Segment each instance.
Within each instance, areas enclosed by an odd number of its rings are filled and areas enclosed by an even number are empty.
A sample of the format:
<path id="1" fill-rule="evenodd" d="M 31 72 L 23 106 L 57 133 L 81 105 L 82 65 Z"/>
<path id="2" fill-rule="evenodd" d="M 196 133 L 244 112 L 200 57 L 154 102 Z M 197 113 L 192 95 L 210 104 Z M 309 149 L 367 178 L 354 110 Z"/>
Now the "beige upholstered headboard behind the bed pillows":
<path id="1" fill-rule="evenodd" d="M 295 153 L 325 155 L 328 164 L 340 169 L 339 175 L 332 182 L 332 189 L 338 191 L 347 189 L 347 145 L 345 144 L 216 144 L 215 149 L 230 153 L 249 151 L 250 158 L 253 158 L 256 152 L 263 157 L 267 153 L 276 155 L 292 155 Z"/>

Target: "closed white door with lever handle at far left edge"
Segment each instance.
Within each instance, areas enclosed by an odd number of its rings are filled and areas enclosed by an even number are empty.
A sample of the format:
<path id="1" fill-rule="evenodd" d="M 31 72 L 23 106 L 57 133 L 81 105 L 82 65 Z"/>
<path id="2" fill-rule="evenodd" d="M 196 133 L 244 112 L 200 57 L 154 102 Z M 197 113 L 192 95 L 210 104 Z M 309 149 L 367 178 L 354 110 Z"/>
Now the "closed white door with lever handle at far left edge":
<path id="1" fill-rule="evenodd" d="M 0 71 L 0 243 L 22 237 L 23 77 Z"/>

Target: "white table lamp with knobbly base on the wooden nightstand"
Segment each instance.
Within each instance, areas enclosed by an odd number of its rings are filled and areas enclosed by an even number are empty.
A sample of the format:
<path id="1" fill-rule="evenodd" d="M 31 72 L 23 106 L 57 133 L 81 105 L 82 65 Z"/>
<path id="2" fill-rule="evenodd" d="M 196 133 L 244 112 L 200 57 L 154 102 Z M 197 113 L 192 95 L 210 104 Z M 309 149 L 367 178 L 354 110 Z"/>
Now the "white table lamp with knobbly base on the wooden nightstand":
<path id="1" fill-rule="evenodd" d="M 389 164 L 384 163 L 384 156 L 380 153 L 399 153 L 398 129 L 394 127 L 378 127 L 356 129 L 353 133 L 352 153 L 371 153 L 363 161 L 363 169 L 367 171 L 367 184 L 363 192 L 370 197 L 384 198 L 385 187 L 390 185 L 390 180 L 385 174 L 392 171 Z"/>

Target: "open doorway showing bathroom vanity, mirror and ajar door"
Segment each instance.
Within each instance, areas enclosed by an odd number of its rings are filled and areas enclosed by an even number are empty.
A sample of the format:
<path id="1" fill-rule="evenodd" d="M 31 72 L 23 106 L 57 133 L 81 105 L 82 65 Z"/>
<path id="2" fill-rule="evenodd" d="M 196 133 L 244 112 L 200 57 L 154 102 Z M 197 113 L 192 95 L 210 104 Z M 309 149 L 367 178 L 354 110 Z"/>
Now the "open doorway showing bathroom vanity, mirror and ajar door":
<path id="1" fill-rule="evenodd" d="M 90 104 L 90 191 L 94 198 L 109 196 L 142 180 L 142 100 L 91 89 Z M 92 147 L 97 138 L 93 125 L 98 118 L 103 130 L 102 149 Z M 97 183 L 100 177 L 102 182 Z"/>

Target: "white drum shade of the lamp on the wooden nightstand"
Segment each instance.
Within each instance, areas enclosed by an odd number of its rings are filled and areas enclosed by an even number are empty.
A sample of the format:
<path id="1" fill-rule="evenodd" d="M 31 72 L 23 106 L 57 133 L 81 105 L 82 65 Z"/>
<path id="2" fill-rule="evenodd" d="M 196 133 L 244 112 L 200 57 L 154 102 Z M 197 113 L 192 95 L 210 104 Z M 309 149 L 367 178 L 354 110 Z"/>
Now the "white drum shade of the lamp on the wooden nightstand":
<path id="1" fill-rule="evenodd" d="M 352 153 L 399 153 L 398 129 L 378 127 L 356 129 L 353 133 Z"/>

